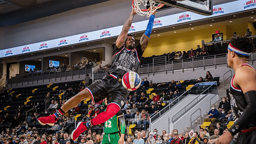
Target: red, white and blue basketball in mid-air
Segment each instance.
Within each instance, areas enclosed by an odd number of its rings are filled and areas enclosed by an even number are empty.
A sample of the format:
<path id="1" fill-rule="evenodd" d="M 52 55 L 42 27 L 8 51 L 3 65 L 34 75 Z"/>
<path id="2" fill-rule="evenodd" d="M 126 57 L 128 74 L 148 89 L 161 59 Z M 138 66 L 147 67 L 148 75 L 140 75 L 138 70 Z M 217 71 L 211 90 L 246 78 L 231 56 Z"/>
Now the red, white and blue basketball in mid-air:
<path id="1" fill-rule="evenodd" d="M 141 78 L 136 72 L 127 72 L 122 78 L 122 84 L 129 91 L 134 91 L 140 87 Z"/>

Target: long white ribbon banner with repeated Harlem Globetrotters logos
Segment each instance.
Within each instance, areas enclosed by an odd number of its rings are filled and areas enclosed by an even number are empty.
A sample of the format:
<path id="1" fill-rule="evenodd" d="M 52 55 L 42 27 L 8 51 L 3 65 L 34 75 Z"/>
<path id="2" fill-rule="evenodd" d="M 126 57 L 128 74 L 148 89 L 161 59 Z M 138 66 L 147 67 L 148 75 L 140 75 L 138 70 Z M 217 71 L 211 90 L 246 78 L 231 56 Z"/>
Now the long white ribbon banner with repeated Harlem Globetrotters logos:
<path id="1" fill-rule="evenodd" d="M 195 20 L 201 20 L 205 18 L 213 18 L 216 16 L 231 14 L 235 12 L 241 12 L 245 10 L 255 9 L 256 8 L 256 0 L 238 0 L 229 3 L 224 3 L 220 5 L 213 6 L 213 14 L 211 16 L 203 16 L 196 13 L 192 13 L 189 11 L 163 16 L 159 18 L 155 18 L 153 29 L 161 28 L 171 25 L 176 25 L 185 22 L 192 22 Z M 129 33 L 141 32 L 145 31 L 148 24 L 148 20 L 133 23 L 131 28 L 129 29 Z M 73 35 L 69 37 L 28 44 L 24 46 L 14 47 L 14 48 L 6 48 L 0 51 L 0 57 L 8 57 L 14 56 L 24 53 L 36 52 L 40 50 L 47 50 L 51 48 L 57 48 L 67 45 L 79 44 L 83 42 L 90 42 L 99 39 L 106 39 L 109 37 L 115 37 L 120 34 L 122 30 L 122 26 L 97 30 L 93 32 Z"/>

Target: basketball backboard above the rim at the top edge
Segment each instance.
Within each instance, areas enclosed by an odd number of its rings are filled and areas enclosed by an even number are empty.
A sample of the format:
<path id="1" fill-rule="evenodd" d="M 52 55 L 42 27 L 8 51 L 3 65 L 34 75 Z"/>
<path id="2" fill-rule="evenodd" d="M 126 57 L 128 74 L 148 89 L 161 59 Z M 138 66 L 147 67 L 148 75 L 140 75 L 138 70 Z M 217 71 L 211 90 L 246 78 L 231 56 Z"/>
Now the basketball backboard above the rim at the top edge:
<path id="1" fill-rule="evenodd" d="M 164 5 L 184 9 L 201 15 L 212 15 L 212 0 L 154 0 Z"/>

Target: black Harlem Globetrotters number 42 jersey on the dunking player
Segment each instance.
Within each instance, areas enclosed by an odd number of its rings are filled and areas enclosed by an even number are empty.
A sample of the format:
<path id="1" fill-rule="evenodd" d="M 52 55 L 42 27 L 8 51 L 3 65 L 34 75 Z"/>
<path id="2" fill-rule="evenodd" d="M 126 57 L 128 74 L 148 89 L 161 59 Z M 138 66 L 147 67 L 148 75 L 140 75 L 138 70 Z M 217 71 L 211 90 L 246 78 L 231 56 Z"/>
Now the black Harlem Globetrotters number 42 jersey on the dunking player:
<path id="1" fill-rule="evenodd" d="M 137 72 L 143 54 L 140 43 L 133 49 L 126 48 L 124 45 L 117 48 L 115 45 L 113 51 L 113 63 L 109 68 L 111 74 L 122 78 L 127 72 Z"/>

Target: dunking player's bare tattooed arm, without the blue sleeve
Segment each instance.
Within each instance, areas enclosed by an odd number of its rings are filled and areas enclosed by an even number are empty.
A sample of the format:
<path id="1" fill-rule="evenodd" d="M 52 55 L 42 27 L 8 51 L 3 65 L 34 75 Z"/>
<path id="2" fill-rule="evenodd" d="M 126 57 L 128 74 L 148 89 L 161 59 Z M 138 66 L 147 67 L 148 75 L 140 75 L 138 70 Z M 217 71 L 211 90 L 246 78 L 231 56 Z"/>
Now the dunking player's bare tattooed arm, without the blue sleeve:
<path id="1" fill-rule="evenodd" d="M 127 34 L 129 32 L 129 29 L 132 25 L 132 20 L 133 17 L 136 15 L 136 12 L 134 9 L 132 9 L 131 14 L 129 15 L 129 18 L 124 22 L 122 31 L 120 33 L 120 35 L 118 36 L 117 40 L 116 40 L 116 47 L 120 48 L 122 45 L 124 45 L 124 42 L 126 40 Z"/>

